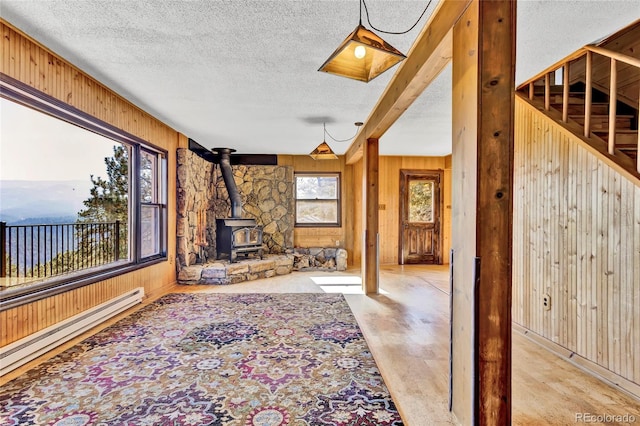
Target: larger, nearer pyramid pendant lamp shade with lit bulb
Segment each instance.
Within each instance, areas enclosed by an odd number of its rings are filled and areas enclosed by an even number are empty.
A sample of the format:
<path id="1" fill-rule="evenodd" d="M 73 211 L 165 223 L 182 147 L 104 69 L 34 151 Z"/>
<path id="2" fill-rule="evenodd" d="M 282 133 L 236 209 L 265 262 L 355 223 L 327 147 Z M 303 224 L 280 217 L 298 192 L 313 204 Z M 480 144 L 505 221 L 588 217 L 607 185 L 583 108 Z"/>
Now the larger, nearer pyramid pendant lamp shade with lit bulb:
<path id="1" fill-rule="evenodd" d="M 360 59 L 355 52 L 358 46 L 366 51 Z M 405 58 L 374 32 L 358 25 L 318 71 L 369 82 Z"/>

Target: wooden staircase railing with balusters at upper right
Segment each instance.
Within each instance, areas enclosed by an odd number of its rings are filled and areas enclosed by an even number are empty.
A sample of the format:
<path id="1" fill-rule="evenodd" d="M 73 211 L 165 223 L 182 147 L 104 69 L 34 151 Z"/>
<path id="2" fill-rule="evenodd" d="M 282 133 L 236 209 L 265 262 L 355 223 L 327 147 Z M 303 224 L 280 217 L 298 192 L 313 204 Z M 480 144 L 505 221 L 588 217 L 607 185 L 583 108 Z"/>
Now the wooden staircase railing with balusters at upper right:
<path id="1" fill-rule="evenodd" d="M 608 100 L 608 131 L 606 133 L 607 137 L 607 151 L 610 155 L 616 156 L 618 155 L 618 151 L 616 148 L 621 147 L 621 145 L 616 144 L 616 115 L 617 115 L 617 104 L 618 104 L 618 76 L 619 76 L 619 63 L 623 63 L 632 67 L 632 72 L 625 72 L 625 80 L 629 80 L 629 75 L 632 75 L 631 78 L 635 78 L 636 81 L 640 80 L 640 60 L 631 56 L 624 55 L 622 53 L 614 52 L 608 49 L 604 49 L 598 46 L 585 46 L 582 49 L 576 51 L 570 56 L 567 56 L 563 60 L 555 63 L 550 66 L 546 70 L 542 71 L 532 79 L 526 81 L 518 87 L 518 91 L 528 93 L 528 97 L 530 100 L 533 100 L 536 95 L 536 88 L 543 85 L 544 87 L 544 109 L 545 111 L 549 111 L 551 108 L 551 97 L 552 90 L 551 85 L 552 82 L 555 82 L 557 71 L 562 69 L 562 121 L 565 123 L 569 122 L 569 99 L 570 99 L 570 88 L 569 85 L 571 83 L 570 74 L 572 70 L 572 64 L 582 62 L 581 59 L 584 58 L 584 137 L 590 138 L 593 137 L 592 133 L 592 110 L 593 110 L 593 88 L 594 88 L 594 75 L 593 75 L 593 63 L 594 63 L 594 55 L 602 56 L 608 58 L 610 61 L 609 67 L 609 81 L 608 81 L 608 90 L 606 85 L 598 85 L 598 89 L 603 92 L 608 91 L 609 100 Z M 635 77 L 633 76 L 635 74 Z M 579 79 L 581 80 L 581 79 Z M 542 84 L 540 84 L 542 83 Z M 636 94 L 640 99 L 640 93 Z M 630 102 L 626 102 L 630 103 Z M 636 109 L 636 111 L 640 111 L 640 100 L 635 100 L 635 105 L 630 105 Z M 640 127 L 640 118 L 636 113 L 635 116 L 635 127 L 638 129 Z M 636 151 L 636 171 L 640 173 L 640 132 L 638 132 L 638 136 L 635 140 Z"/>

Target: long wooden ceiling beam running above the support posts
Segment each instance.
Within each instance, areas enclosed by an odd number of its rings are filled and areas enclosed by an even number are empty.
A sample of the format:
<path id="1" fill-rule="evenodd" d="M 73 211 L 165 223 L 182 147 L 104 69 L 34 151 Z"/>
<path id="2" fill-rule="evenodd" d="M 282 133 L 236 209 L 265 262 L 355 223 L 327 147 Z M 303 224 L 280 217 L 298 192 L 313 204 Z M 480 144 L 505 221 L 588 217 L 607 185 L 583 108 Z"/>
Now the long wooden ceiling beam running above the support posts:
<path id="1" fill-rule="evenodd" d="M 470 3 L 471 0 L 440 2 L 349 146 L 347 164 L 360 160 L 366 140 L 379 139 L 451 61 L 452 28 Z"/>

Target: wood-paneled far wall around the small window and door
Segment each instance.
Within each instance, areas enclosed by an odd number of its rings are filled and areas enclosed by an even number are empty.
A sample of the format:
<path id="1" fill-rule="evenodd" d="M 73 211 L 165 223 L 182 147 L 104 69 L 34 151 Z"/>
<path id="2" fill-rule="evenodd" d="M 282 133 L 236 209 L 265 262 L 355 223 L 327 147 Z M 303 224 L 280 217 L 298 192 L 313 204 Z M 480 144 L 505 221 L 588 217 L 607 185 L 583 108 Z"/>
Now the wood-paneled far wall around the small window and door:
<path id="1" fill-rule="evenodd" d="M 381 144 L 384 141 L 380 141 Z M 296 172 L 342 173 L 342 227 L 296 228 L 294 244 L 300 247 L 340 246 L 349 252 L 349 265 L 359 267 L 362 247 L 362 162 L 347 165 L 344 156 L 338 160 L 316 161 L 306 155 L 281 155 L 278 164 L 291 165 Z M 380 263 L 398 264 L 400 221 L 400 170 L 444 170 L 442 186 L 443 212 L 442 259 L 448 263 L 451 238 L 451 158 L 382 156 L 380 181 Z"/>

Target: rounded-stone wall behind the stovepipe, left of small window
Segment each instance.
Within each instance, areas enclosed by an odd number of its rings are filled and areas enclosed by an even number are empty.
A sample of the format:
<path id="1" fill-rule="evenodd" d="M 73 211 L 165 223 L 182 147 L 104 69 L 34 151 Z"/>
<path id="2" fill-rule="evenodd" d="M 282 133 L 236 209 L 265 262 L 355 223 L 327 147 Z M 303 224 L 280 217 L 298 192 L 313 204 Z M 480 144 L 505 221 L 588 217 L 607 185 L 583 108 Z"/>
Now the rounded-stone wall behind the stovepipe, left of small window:
<path id="1" fill-rule="evenodd" d="M 242 196 L 243 217 L 263 226 L 263 245 L 267 253 L 293 249 L 294 198 L 293 167 L 232 166 Z M 216 169 L 215 216 L 229 217 L 231 202 L 219 168 Z"/>

